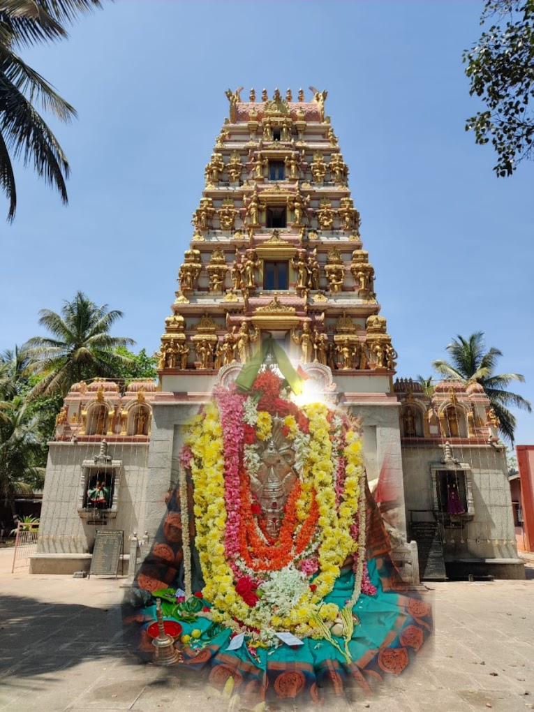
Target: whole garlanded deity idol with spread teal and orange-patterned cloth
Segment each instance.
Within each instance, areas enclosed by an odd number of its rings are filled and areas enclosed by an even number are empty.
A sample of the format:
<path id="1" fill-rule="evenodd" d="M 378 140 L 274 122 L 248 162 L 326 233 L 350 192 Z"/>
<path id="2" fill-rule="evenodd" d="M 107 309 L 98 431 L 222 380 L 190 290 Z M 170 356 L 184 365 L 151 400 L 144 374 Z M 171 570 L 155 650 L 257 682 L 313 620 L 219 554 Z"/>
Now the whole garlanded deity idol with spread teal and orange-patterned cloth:
<path id="1" fill-rule="evenodd" d="M 185 433 L 179 485 L 128 595 L 140 654 L 159 598 L 184 632 L 172 664 L 244 695 L 237 706 L 319 702 L 329 683 L 367 693 L 407 666 L 431 611 L 392 565 L 358 425 L 333 403 L 299 404 L 303 372 L 274 341 L 225 368 L 234 380 L 219 377 Z"/>

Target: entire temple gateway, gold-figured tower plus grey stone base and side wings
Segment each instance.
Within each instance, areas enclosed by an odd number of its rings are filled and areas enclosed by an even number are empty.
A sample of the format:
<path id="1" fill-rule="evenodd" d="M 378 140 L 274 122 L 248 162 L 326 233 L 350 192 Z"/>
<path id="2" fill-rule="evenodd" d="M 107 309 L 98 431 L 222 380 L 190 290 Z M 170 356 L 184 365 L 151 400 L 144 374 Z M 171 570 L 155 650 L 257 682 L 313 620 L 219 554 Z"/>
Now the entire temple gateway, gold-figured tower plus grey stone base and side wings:
<path id="1" fill-rule="evenodd" d="M 162 319 L 159 385 L 73 386 L 50 446 L 31 570 L 86 570 L 100 527 L 124 530 L 126 555 L 134 533 L 136 546 L 141 535 L 151 542 L 179 481 L 183 427 L 217 382 L 276 344 L 305 378 L 304 398 L 328 397 L 357 419 L 367 478 L 406 580 L 524 576 L 506 456 L 485 394 L 476 384 L 425 392 L 394 382 L 397 352 L 327 92 L 226 96 L 229 115 Z M 107 494 L 96 506 L 99 483 Z"/>

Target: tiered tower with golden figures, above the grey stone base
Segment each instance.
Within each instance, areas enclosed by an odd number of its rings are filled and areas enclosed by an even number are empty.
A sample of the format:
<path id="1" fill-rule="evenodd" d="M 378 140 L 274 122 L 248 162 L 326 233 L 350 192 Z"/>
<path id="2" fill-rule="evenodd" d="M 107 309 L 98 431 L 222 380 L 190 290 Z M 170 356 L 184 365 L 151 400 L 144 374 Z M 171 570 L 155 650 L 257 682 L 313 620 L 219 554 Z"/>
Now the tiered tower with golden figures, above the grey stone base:
<path id="1" fill-rule="evenodd" d="M 326 91 L 226 95 L 165 320 L 162 391 L 204 397 L 219 368 L 246 362 L 268 333 L 295 362 L 329 366 L 348 402 L 393 402 L 397 354 Z"/>

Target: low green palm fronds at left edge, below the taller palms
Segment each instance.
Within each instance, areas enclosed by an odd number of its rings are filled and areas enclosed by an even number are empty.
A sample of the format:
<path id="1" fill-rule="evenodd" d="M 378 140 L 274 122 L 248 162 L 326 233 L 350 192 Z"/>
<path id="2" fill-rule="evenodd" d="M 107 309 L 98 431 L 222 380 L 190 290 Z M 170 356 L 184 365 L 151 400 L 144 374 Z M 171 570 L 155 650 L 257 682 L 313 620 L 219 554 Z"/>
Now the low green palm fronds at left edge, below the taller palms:
<path id="1" fill-rule="evenodd" d="M 43 486 L 44 468 L 33 464 L 40 454 L 41 417 L 30 413 L 21 396 L 0 401 L 0 499 L 13 513 L 18 494 Z"/>

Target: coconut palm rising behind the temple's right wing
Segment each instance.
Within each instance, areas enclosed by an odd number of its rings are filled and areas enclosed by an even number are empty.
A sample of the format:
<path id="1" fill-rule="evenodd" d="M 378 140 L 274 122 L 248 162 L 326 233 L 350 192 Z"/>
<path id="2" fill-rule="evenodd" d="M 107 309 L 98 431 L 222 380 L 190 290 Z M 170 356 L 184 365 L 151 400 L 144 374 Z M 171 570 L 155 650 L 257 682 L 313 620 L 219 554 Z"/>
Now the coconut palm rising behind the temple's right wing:
<path id="1" fill-rule="evenodd" d="M 486 396 L 491 402 L 491 407 L 501 421 L 499 429 L 501 434 L 513 442 L 515 430 L 515 417 L 508 407 L 514 406 L 532 410 L 530 402 L 507 390 L 512 381 L 523 383 L 525 378 L 520 373 L 501 373 L 496 375 L 496 365 L 503 354 L 495 347 L 486 351 L 484 334 L 478 331 L 471 334 L 468 339 L 458 335 L 446 347 L 451 355 L 451 360 L 434 361 L 432 366 L 448 379 L 461 381 L 464 384 L 476 381 L 481 384 Z"/>

